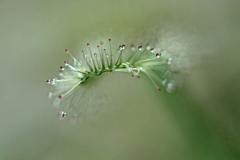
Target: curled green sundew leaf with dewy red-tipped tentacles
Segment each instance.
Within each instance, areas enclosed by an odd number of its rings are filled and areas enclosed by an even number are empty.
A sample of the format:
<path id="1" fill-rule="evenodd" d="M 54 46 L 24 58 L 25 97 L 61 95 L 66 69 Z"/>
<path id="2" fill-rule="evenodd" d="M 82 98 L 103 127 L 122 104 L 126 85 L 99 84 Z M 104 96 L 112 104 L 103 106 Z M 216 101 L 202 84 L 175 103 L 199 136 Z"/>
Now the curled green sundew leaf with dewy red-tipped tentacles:
<path id="1" fill-rule="evenodd" d="M 169 70 L 174 63 L 174 56 L 164 48 L 157 48 L 158 46 L 155 48 L 150 44 L 138 47 L 120 44 L 115 50 L 112 40 L 108 41 L 107 44 L 100 42 L 100 45 L 95 47 L 87 43 L 87 49 L 80 53 L 80 60 L 77 60 L 68 49 L 65 50 L 72 58 L 72 63 L 64 61 L 58 72 L 60 78 L 55 77 L 46 81 L 55 88 L 54 92 L 47 94 L 47 98 L 53 99 L 53 107 L 65 105 L 65 108 L 61 107 L 59 119 L 68 117 L 68 113 L 71 112 L 69 120 L 76 122 L 88 117 L 93 111 L 101 112 L 102 98 L 96 100 L 96 96 L 88 93 L 89 90 L 95 91 L 87 82 L 92 80 L 91 83 L 94 83 L 94 78 L 103 73 L 125 72 L 133 78 L 140 78 L 145 74 L 156 91 L 166 88 L 167 92 L 173 92 L 176 89 L 173 80 L 175 73 Z"/>

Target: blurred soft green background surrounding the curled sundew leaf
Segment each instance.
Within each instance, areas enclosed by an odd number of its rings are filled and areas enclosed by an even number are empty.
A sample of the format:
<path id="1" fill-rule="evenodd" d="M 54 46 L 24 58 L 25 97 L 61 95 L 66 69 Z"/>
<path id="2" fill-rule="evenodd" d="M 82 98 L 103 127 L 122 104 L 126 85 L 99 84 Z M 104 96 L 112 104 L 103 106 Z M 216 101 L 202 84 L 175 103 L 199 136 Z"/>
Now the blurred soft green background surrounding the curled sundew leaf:
<path id="1" fill-rule="evenodd" d="M 240 159 L 240 13 L 227 0 L 0 0 L 0 159 Z M 171 24 L 194 30 L 196 65 L 175 94 L 147 77 L 100 78 L 114 111 L 70 125 L 46 79 L 94 36 L 141 37 Z M 148 37 L 149 38 L 149 37 Z"/>

